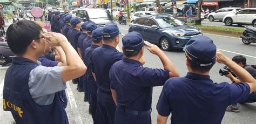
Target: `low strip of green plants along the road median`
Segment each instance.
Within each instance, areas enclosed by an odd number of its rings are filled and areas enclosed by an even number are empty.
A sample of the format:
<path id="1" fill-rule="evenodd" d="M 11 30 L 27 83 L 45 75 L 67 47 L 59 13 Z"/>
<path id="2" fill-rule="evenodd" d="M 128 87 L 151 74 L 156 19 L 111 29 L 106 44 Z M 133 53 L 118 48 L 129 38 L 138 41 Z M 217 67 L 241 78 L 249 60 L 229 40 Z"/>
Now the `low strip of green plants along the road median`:
<path id="1" fill-rule="evenodd" d="M 199 29 L 215 29 L 220 31 L 233 31 L 233 32 L 244 32 L 245 29 L 237 28 L 237 27 L 222 27 L 222 26 L 208 26 L 208 25 L 196 25 L 194 23 L 186 23 L 187 25 L 196 26 Z"/>

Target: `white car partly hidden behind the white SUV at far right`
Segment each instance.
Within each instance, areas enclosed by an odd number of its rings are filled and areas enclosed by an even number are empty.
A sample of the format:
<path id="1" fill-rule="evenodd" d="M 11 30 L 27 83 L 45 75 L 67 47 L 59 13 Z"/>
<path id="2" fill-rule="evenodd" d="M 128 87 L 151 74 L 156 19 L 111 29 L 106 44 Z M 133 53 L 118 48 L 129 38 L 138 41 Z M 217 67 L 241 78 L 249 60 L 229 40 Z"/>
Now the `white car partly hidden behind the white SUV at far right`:
<path id="1" fill-rule="evenodd" d="M 241 10 L 242 8 L 221 8 L 215 12 L 211 12 L 208 14 L 207 18 L 210 20 L 210 22 L 214 20 L 220 20 L 222 21 L 223 18 L 229 14 L 229 13 L 235 13 L 238 10 Z"/>

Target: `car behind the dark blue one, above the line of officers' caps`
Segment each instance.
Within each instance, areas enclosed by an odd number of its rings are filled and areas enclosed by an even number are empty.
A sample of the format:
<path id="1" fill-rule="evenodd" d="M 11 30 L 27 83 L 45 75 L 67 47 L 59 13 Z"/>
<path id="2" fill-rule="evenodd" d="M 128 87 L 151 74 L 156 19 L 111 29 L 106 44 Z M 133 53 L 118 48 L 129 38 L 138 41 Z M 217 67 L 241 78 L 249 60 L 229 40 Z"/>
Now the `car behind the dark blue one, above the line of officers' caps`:
<path id="1" fill-rule="evenodd" d="M 114 23 L 113 18 L 105 9 L 77 9 L 72 11 L 72 15 L 84 21 L 95 22 L 100 27 Z"/>

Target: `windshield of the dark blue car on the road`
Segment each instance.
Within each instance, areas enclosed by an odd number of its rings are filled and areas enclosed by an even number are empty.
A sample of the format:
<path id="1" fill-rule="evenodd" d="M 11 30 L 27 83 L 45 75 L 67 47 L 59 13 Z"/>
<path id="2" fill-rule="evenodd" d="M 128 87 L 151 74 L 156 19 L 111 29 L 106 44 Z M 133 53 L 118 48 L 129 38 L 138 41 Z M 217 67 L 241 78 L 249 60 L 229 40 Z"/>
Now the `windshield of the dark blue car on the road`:
<path id="1" fill-rule="evenodd" d="M 160 17 L 156 18 L 158 24 L 162 27 L 173 27 L 173 26 L 183 26 L 185 25 L 184 22 L 178 19 L 170 18 L 170 17 Z"/>

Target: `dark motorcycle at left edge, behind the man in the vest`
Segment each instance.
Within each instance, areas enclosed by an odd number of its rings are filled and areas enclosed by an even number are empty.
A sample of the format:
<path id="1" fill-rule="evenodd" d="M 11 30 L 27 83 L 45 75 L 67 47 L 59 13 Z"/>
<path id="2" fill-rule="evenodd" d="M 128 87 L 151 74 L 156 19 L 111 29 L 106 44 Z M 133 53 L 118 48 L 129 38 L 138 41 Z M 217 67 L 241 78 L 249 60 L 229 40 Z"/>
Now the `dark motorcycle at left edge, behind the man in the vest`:
<path id="1" fill-rule="evenodd" d="M 4 66 L 11 63 L 12 57 L 14 57 L 15 54 L 11 51 L 7 42 L 5 42 L 6 39 L 4 37 L 0 40 L 2 40 L 0 41 L 0 65 Z"/>

